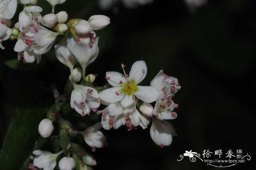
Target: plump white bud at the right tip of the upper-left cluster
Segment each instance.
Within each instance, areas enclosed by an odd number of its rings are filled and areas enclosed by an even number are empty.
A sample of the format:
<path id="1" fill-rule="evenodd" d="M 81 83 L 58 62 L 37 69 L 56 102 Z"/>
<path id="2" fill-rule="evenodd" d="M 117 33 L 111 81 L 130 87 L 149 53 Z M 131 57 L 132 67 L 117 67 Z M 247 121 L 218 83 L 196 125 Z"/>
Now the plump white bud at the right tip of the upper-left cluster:
<path id="1" fill-rule="evenodd" d="M 89 18 L 88 22 L 94 30 L 99 30 L 110 24 L 110 18 L 105 15 L 93 15 Z"/>

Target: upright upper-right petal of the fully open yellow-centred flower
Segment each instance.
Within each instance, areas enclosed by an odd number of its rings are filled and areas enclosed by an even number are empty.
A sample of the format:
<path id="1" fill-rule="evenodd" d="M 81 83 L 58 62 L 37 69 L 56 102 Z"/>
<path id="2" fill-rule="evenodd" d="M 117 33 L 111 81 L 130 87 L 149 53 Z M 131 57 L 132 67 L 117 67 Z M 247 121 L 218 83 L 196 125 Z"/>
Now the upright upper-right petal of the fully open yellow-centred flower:
<path id="1" fill-rule="evenodd" d="M 143 71 L 144 70 L 144 71 Z M 145 72 L 143 74 L 143 72 Z M 137 61 L 132 64 L 129 79 L 139 84 L 147 75 L 147 65 L 144 61 Z"/>

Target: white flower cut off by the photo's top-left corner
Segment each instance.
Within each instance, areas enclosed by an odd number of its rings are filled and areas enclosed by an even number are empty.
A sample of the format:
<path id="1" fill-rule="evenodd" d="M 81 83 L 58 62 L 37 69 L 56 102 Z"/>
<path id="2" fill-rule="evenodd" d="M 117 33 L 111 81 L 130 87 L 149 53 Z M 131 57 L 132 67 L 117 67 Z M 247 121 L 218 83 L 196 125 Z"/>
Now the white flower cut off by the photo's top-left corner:
<path id="1" fill-rule="evenodd" d="M 11 19 L 17 8 L 17 0 L 0 0 L 0 19 Z"/>

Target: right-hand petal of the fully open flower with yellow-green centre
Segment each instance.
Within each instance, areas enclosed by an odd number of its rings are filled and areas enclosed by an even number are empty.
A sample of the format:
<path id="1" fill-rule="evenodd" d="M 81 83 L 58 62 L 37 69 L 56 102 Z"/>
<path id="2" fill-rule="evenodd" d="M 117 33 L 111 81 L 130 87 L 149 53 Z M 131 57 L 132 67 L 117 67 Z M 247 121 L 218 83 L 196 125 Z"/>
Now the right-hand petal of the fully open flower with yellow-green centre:
<path id="1" fill-rule="evenodd" d="M 155 88 L 150 86 L 137 86 L 138 91 L 134 93 L 134 95 L 139 98 L 140 100 L 152 103 L 158 98 L 158 92 Z"/>

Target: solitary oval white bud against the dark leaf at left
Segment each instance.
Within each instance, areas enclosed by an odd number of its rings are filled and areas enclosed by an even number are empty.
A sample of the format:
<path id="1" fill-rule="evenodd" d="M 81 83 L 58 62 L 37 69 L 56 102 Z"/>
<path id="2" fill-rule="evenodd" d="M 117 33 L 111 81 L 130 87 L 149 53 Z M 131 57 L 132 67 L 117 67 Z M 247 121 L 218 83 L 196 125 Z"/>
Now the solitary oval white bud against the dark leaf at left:
<path id="1" fill-rule="evenodd" d="M 38 132 L 43 138 L 48 138 L 54 129 L 50 119 L 43 119 L 38 126 Z"/>

